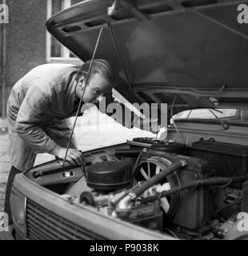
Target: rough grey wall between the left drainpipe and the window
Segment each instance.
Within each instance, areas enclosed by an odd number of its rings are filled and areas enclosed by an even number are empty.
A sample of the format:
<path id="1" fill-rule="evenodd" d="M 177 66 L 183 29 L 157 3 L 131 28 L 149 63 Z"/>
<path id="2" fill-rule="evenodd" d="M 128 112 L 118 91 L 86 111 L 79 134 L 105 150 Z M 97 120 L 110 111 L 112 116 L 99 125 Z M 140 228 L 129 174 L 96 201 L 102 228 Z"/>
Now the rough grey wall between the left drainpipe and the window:
<path id="1" fill-rule="evenodd" d="M 14 83 L 46 63 L 46 0 L 6 0 L 6 98 Z"/>

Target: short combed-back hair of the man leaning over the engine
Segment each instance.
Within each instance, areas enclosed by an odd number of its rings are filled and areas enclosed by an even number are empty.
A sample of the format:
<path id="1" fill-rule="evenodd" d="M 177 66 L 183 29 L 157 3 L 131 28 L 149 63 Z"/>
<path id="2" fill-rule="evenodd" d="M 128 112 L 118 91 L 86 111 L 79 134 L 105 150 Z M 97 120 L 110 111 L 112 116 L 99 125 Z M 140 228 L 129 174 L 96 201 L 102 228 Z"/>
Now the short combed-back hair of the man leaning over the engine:
<path id="1" fill-rule="evenodd" d="M 82 66 L 78 70 L 78 74 L 76 77 L 77 80 L 80 79 L 82 76 L 86 77 L 90 68 L 90 62 L 91 60 L 88 60 L 82 64 Z M 114 67 L 106 59 L 94 59 L 90 71 L 90 78 L 96 73 L 102 74 L 102 76 L 106 78 L 108 82 L 110 82 L 110 85 L 114 86 L 114 84 L 118 83 L 118 73 L 116 72 L 116 70 L 114 70 Z"/>

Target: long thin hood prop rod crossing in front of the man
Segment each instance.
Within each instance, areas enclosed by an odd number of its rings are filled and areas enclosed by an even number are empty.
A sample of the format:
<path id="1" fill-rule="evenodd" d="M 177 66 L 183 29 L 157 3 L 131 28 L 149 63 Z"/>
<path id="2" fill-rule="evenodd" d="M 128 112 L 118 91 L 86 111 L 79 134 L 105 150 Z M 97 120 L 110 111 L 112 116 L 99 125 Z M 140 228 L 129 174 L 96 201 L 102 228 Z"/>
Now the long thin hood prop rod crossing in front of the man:
<path id="1" fill-rule="evenodd" d="M 97 39 L 97 42 L 94 46 L 94 52 L 93 52 L 93 55 L 92 55 L 92 58 L 91 58 L 91 61 L 90 61 L 90 66 L 89 66 L 89 70 L 87 72 L 87 75 L 86 75 L 86 78 L 84 79 L 83 83 L 84 83 L 84 86 L 83 86 L 83 90 L 82 90 L 82 95 L 81 95 L 81 98 L 80 98 L 80 102 L 78 104 L 78 110 L 77 110 L 77 113 L 76 113 L 76 116 L 75 116 L 75 120 L 74 120 L 74 125 L 73 125 L 73 128 L 71 130 L 71 134 L 70 134 L 70 139 L 69 139 L 69 142 L 67 144 L 67 148 L 66 148 L 66 154 L 65 154 L 65 158 L 62 162 L 62 166 L 65 165 L 65 162 L 66 162 L 66 157 L 67 157 L 67 154 L 68 154 L 68 150 L 69 150 L 69 147 L 70 147 L 70 142 L 71 142 L 71 139 L 72 139 L 72 136 L 74 134 L 74 129 L 75 129 L 75 126 L 76 126 L 76 122 L 77 122 L 77 119 L 78 119 L 78 115 L 80 114 L 80 110 L 81 110 L 81 105 L 82 105 L 82 98 L 85 94 L 85 91 L 86 91 L 86 86 L 88 85 L 88 82 L 89 82 L 89 78 L 90 78 L 90 71 L 92 69 L 92 64 L 94 62 L 94 58 L 95 58 L 95 54 L 96 54 L 96 51 L 98 50 L 98 45 L 99 45 L 99 42 L 100 42 L 100 38 L 102 36 L 102 30 L 106 30 L 108 28 L 108 26 L 106 24 L 102 25 L 100 31 L 99 31 L 99 34 L 98 34 L 98 39 Z M 77 81 L 77 85 L 76 85 L 76 88 L 78 87 L 78 83 L 79 83 L 79 79 Z"/>

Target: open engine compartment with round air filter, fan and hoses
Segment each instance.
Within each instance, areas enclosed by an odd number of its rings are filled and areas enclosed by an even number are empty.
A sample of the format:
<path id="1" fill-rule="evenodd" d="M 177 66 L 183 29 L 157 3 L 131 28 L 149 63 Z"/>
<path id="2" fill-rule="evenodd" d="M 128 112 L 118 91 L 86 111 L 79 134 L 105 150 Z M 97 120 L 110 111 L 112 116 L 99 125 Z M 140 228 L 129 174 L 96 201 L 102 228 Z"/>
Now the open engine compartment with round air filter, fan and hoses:
<path id="1" fill-rule="evenodd" d="M 237 228 L 238 213 L 248 212 L 247 146 L 135 138 L 84 158 L 85 166 L 34 166 L 26 177 L 70 202 L 174 238 L 248 238 Z"/>

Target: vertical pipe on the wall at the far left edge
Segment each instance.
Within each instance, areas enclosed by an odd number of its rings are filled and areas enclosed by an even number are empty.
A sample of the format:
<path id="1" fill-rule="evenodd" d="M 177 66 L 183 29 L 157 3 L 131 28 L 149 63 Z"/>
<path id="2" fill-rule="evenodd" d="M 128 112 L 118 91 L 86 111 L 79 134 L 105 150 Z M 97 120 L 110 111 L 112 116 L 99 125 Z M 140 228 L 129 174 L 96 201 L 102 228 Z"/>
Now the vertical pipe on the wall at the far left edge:
<path id="1" fill-rule="evenodd" d="M 6 0 L 2 1 L 6 5 Z M 2 84 L 2 119 L 6 118 L 6 24 L 2 23 L 2 62 L 1 62 L 1 84 Z"/>

